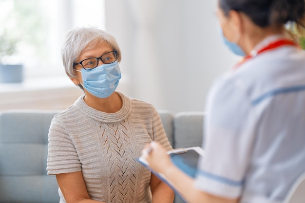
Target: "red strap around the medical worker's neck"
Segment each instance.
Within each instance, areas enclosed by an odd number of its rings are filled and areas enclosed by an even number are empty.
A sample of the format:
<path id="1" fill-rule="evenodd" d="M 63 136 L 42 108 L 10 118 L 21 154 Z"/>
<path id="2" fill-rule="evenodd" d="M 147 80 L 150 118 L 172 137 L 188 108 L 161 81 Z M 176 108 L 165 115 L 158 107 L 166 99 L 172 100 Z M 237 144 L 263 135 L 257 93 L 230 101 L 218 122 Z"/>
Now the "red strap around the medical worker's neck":
<path id="1" fill-rule="evenodd" d="M 245 61 L 261 54 L 262 52 L 265 52 L 265 51 L 268 51 L 268 50 L 271 50 L 271 49 L 275 49 L 275 48 L 278 48 L 278 47 L 281 47 L 281 46 L 284 46 L 284 45 L 293 45 L 293 46 L 297 46 L 297 44 L 289 39 L 280 39 L 280 40 L 277 40 L 275 42 L 272 42 L 270 44 L 268 44 L 266 47 L 263 47 L 262 49 L 258 50 L 256 53 L 252 53 L 250 55 L 247 55 L 244 57 L 244 59 L 242 61 L 240 61 L 239 63 L 237 63 L 235 66 L 234 66 L 234 69 L 237 69 L 240 65 L 242 65 Z M 255 50 L 254 50 L 255 51 Z"/>

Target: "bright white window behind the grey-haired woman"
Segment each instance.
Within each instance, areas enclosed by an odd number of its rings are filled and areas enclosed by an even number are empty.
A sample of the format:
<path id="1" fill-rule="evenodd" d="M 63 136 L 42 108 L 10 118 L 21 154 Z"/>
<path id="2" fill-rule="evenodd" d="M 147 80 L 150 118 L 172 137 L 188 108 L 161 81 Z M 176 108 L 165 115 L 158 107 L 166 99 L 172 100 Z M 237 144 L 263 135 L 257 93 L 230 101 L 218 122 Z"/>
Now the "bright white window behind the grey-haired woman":
<path id="1" fill-rule="evenodd" d="M 2 63 L 22 63 L 26 79 L 64 74 L 64 35 L 80 26 L 105 29 L 104 7 L 103 0 L 0 0 L 0 37 L 16 42 Z"/>

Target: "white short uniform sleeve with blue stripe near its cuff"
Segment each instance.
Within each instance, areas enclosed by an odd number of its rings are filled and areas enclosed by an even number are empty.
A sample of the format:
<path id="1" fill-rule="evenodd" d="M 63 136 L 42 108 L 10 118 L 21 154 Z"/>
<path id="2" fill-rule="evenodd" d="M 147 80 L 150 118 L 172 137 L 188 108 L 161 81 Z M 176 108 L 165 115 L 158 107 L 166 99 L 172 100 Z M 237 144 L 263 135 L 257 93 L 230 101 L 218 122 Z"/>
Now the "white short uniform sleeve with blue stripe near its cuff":
<path id="1" fill-rule="evenodd" d="M 213 195 L 241 195 L 251 156 L 255 114 L 243 83 L 231 76 L 211 89 L 205 118 L 206 156 L 199 161 L 195 186 Z"/>

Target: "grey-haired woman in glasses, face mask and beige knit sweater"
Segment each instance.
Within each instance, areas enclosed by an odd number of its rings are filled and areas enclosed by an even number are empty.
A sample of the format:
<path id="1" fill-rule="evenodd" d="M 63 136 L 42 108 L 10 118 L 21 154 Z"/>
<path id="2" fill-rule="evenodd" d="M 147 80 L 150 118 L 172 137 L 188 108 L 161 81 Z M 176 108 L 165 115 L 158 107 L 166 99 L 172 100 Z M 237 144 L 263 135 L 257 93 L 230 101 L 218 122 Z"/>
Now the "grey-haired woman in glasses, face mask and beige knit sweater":
<path id="1" fill-rule="evenodd" d="M 171 146 L 151 104 L 115 92 L 121 52 L 114 37 L 74 29 L 62 60 L 84 95 L 49 130 L 47 170 L 56 175 L 60 203 L 172 203 L 173 191 L 135 161 L 151 141 Z"/>

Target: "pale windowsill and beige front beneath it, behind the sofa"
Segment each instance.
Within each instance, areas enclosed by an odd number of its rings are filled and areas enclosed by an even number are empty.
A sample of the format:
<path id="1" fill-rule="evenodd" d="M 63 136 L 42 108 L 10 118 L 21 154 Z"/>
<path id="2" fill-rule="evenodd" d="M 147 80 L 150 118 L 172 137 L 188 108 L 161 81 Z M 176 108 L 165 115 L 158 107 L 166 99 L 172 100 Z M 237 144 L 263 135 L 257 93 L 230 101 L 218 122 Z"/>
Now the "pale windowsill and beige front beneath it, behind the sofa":
<path id="1" fill-rule="evenodd" d="M 82 93 L 67 76 L 41 77 L 24 80 L 22 83 L 0 83 L 0 111 L 66 109 Z"/>

